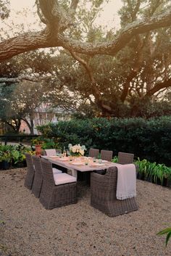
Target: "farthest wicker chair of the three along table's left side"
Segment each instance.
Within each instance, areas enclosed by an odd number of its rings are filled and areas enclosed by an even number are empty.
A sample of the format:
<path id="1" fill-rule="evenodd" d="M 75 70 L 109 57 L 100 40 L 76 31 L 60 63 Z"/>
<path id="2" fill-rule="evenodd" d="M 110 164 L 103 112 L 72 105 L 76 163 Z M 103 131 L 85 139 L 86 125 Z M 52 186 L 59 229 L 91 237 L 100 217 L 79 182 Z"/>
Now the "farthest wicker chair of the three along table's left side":
<path id="1" fill-rule="evenodd" d="M 31 154 L 25 153 L 25 159 L 26 159 L 26 164 L 28 168 L 28 172 L 25 176 L 25 187 L 28 189 L 32 189 L 35 169 L 34 169 Z"/>

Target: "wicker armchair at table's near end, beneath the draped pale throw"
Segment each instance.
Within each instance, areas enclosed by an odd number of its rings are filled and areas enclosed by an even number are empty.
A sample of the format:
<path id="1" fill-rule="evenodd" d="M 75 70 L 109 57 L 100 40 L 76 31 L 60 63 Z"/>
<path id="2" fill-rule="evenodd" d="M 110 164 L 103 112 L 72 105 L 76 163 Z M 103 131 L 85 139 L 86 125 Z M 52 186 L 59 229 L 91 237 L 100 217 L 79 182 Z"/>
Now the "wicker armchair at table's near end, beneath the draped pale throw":
<path id="1" fill-rule="evenodd" d="M 118 200 L 116 192 L 116 167 L 109 168 L 104 176 L 98 173 L 91 173 L 91 206 L 110 217 L 138 210 L 135 197 Z"/>

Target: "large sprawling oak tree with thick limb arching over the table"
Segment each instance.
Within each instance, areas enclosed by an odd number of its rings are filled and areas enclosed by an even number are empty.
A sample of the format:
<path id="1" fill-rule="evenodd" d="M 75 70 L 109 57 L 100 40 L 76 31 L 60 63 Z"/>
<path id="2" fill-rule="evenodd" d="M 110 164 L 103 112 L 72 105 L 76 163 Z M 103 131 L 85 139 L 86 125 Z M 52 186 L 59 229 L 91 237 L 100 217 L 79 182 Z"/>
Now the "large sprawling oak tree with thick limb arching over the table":
<path id="1" fill-rule="evenodd" d="M 120 11 L 122 28 L 117 33 L 110 30 L 106 36 L 99 36 L 100 31 L 92 24 L 102 2 L 92 1 L 92 11 L 81 26 L 81 22 L 77 23 L 83 16 L 81 1 L 72 0 L 70 6 L 67 1 L 36 1 L 38 16 L 46 27 L 2 41 L 0 61 L 33 49 L 62 46 L 88 75 L 89 81 L 83 80 L 84 86 L 79 88 L 77 83 L 80 96 L 95 104 L 102 115 L 118 115 L 128 104 L 136 115 L 139 99 L 146 102 L 157 91 L 170 86 L 170 3 L 124 0 Z M 162 52 L 163 35 L 166 54 Z M 157 72 L 154 75 L 155 70 L 159 71 L 158 75 Z"/>

